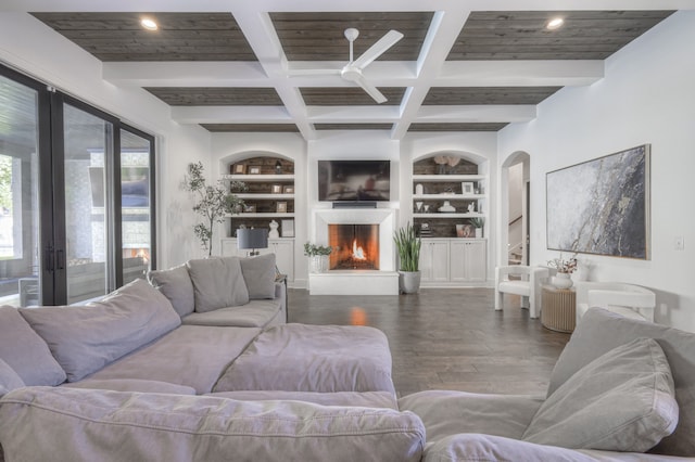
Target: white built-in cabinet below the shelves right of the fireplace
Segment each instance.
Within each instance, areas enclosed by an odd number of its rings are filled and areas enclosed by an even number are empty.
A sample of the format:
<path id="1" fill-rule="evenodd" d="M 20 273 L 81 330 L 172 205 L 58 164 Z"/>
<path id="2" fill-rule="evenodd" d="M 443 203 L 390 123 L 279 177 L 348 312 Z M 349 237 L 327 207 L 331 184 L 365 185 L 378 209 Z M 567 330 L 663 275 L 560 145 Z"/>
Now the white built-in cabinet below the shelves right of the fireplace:
<path id="1" fill-rule="evenodd" d="M 420 272 L 424 285 L 456 286 L 485 283 L 488 242 L 484 239 L 422 239 Z"/>

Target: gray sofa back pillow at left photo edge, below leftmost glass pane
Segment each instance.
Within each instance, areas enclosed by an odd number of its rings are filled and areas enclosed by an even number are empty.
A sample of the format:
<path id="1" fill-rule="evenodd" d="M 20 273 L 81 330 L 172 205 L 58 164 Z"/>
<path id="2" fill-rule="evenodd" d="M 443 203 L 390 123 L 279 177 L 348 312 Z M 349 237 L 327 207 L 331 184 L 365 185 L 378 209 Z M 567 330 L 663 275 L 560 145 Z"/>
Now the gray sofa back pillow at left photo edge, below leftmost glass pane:
<path id="1" fill-rule="evenodd" d="M 16 308 L 0 307 L 0 358 L 26 385 L 59 385 L 65 371 Z"/>

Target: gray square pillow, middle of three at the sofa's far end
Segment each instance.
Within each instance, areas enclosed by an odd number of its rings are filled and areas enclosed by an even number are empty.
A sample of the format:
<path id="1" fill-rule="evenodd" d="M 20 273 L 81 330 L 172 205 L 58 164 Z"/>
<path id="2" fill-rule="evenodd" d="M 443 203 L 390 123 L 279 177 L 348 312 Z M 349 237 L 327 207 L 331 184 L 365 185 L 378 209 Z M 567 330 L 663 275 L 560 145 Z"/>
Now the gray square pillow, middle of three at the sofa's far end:
<path id="1" fill-rule="evenodd" d="M 249 290 L 238 257 L 189 260 L 195 311 L 236 307 L 249 303 Z"/>

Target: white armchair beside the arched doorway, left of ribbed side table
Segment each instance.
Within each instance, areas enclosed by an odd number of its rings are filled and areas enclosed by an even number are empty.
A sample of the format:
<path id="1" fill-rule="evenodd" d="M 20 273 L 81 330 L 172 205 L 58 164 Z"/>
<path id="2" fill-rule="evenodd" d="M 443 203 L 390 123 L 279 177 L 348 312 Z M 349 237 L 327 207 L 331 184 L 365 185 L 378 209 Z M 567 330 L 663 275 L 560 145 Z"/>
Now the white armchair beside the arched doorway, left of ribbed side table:
<path id="1" fill-rule="evenodd" d="M 529 316 L 538 318 L 541 312 L 541 283 L 548 274 L 549 269 L 545 267 L 510 265 L 495 268 L 495 310 L 502 309 L 503 294 L 515 294 L 521 296 L 521 307 L 529 309 Z"/>

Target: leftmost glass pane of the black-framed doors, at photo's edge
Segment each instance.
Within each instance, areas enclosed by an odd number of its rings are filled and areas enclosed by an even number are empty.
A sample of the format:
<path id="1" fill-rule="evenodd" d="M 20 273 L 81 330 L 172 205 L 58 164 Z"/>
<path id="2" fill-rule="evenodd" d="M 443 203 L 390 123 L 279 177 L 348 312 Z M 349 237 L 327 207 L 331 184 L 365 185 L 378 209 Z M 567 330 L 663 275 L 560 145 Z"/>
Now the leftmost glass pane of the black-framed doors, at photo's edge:
<path id="1" fill-rule="evenodd" d="M 0 75 L 0 305 L 41 300 L 38 104 L 37 90 Z"/>

